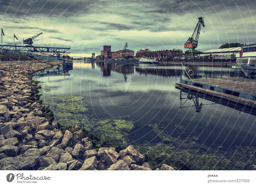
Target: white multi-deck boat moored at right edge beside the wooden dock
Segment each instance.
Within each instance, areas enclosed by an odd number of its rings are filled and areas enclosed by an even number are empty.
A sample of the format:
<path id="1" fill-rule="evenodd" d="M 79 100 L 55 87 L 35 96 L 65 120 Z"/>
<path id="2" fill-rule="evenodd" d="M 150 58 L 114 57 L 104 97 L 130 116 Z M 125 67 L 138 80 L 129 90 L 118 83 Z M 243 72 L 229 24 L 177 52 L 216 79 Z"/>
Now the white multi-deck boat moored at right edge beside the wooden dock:
<path id="1" fill-rule="evenodd" d="M 256 43 L 241 46 L 241 51 L 236 54 L 236 63 L 232 68 L 248 76 L 256 75 Z"/>

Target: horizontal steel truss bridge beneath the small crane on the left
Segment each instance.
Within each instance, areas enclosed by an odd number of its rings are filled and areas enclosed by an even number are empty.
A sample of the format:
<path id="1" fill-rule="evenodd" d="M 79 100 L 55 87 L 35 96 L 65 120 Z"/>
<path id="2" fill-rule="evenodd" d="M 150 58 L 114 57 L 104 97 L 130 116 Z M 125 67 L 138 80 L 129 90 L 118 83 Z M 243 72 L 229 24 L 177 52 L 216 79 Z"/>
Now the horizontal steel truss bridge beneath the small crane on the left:
<path id="1" fill-rule="evenodd" d="M 63 48 L 63 47 L 41 47 L 41 46 L 21 46 L 21 45 L 0 45 L 1 51 L 4 52 L 4 50 L 12 50 L 14 51 L 27 51 L 27 52 L 41 52 L 45 53 L 46 55 L 53 55 L 53 56 L 66 56 L 70 54 L 68 50 L 70 48 Z"/>

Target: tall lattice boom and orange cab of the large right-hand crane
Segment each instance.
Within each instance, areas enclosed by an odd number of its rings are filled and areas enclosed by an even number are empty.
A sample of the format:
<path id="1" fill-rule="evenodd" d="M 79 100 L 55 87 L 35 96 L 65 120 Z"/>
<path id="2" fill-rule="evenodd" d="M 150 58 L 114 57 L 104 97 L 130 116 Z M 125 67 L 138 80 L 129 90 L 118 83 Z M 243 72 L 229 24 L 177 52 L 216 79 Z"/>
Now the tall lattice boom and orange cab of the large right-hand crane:
<path id="1" fill-rule="evenodd" d="M 204 17 L 199 17 L 198 18 L 196 28 L 195 28 L 192 36 L 189 37 L 188 41 L 184 44 L 184 48 L 190 48 L 190 49 L 193 48 L 193 49 L 195 49 L 197 47 L 201 26 L 203 26 L 203 27 L 205 26 L 204 25 Z"/>

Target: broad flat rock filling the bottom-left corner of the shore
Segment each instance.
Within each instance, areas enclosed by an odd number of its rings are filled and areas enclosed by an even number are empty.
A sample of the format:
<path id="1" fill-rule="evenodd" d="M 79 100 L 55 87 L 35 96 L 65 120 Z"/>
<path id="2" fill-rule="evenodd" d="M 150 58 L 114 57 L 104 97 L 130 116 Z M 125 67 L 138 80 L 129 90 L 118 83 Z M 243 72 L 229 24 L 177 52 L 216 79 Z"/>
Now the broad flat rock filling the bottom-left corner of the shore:
<path id="1" fill-rule="evenodd" d="M 38 149 L 28 149 L 26 153 L 17 157 L 1 159 L 1 170 L 33 170 L 40 156 Z"/>

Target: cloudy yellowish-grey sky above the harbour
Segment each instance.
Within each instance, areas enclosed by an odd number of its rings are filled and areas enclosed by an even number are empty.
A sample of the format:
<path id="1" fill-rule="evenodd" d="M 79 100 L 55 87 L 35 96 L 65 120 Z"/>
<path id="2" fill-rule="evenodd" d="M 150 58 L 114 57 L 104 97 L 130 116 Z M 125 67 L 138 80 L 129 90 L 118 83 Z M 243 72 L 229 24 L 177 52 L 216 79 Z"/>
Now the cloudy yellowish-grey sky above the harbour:
<path id="1" fill-rule="evenodd" d="M 204 17 L 197 50 L 218 48 L 224 43 L 256 43 L 255 0 L 0 0 L 3 44 L 17 45 L 43 32 L 43 45 L 70 47 L 71 56 L 96 55 L 103 45 L 112 51 L 125 43 L 135 52 L 185 51 L 199 16 Z M 205 31 L 205 32 L 203 32 Z M 34 40 L 41 46 L 42 37 Z"/>

